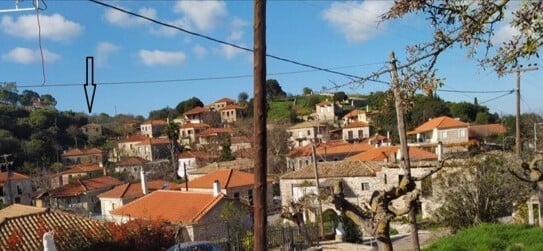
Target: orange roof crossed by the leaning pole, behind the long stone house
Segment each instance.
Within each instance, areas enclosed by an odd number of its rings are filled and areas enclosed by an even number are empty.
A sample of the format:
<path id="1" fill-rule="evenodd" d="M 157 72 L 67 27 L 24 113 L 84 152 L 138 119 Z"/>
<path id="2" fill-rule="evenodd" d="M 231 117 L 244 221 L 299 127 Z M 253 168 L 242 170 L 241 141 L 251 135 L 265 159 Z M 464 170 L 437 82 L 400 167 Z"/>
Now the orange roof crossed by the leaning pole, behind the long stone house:
<path id="1" fill-rule="evenodd" d="M 399 146 L 385 146 L 377 147 L 366 152 L 359 153 L 357 155 L 347 158 L 347 160 L 359 160 L 359 161 L 384 161 L 394 160 L 394 156 L 398 153 Z M 435 160 L 437 155 L 420 148 L 410 147 L 409 158 L 412 161 L 418 160 Z"/>

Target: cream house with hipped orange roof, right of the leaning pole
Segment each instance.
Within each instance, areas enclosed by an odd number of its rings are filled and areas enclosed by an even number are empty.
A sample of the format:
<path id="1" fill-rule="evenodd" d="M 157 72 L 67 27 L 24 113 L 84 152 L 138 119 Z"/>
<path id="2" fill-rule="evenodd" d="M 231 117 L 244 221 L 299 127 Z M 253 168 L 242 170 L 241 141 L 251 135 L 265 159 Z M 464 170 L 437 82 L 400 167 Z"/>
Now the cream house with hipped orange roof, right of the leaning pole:
<path id="1" fill-rule="evenodd" d="M 443 143 L 445 149 L 448 146 L 461 146 L 469 143 L 467 123 L 447 116 L 430 119 L 415 130 L 408 132 L 408 135 L 416 137 L 412 146 L 436 146 Z"/>

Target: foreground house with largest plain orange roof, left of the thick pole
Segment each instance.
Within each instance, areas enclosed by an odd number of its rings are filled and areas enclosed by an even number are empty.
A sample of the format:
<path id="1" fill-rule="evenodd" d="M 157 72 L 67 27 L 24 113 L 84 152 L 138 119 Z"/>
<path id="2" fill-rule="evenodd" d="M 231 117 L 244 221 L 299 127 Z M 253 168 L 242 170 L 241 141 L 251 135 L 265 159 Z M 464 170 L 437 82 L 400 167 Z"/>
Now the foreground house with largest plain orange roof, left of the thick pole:
<path id="1" fill-rule="evenodd" d="M 184 241 L 227 238 L 226 223 L 220 214 L 228 202 L 237 203 L 219 191 L 197 193 L 158 190 L 111 211 L 116 222 L 161 220 L 184 226 Z M 250 229 L 247 215 L 245 228 Z"/>

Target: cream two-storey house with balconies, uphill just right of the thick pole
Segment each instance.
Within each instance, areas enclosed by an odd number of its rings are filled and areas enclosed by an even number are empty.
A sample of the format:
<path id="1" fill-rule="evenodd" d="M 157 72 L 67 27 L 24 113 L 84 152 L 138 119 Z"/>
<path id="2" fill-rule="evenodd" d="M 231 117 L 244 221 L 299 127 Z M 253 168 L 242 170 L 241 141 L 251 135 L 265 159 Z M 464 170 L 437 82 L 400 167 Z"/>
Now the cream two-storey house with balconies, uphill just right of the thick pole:
<path id="1" fill-rule="evenodd" d="M 289 133 L 289 143 L 292 146 L 306 146 L 326 141 L 328 125 L 321 121 L 306 121 L 289 127 L 287 132 Z"/>

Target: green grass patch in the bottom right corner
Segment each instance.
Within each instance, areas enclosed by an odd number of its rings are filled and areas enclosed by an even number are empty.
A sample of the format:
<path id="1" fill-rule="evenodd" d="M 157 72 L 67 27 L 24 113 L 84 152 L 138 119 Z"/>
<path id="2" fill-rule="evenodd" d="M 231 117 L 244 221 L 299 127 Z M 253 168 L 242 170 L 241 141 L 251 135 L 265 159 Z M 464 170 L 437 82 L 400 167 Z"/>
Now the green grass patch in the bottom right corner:
<path id="1" fill-rule="evenodd" d="M 440 239 L 424 250 L 543 250 L 543 228 L 482 224 Z"/>

